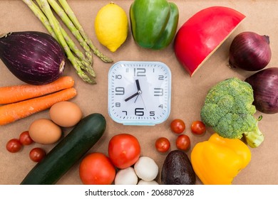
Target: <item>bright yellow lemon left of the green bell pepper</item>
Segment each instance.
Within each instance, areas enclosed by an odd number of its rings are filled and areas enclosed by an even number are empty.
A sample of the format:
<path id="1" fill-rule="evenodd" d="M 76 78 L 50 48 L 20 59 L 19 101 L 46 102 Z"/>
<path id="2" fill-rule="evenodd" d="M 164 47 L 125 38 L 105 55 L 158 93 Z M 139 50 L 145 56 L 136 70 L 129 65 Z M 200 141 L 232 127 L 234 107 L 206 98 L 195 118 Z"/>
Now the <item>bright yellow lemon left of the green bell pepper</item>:
<path id="1" fill-rule="evenodd" d="M 115 52 L 128 37 L 128 16 L 120 6 L 111 2 L 98 11 L 95 31 L 98 41 Z"/>

